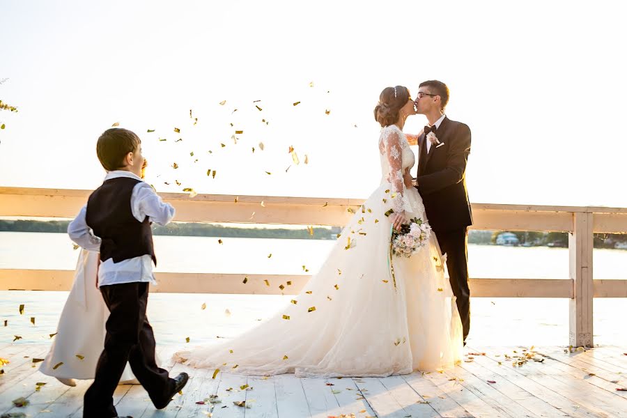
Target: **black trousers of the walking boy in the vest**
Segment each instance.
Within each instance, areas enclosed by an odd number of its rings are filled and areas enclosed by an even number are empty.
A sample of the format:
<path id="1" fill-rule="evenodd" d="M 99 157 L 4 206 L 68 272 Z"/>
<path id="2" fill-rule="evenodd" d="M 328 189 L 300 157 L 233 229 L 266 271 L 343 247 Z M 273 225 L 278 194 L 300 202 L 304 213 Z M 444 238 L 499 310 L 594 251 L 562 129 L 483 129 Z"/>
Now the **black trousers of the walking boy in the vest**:
<path id="1" fill-rule="evenodd" d="M 95 379 L 84 396 L 84 418 L 117 417 L 113 394 L 126 363 L 155 404 L 171 396 L 174 380 L 155 361 L 155 336 L 146 318 L 148 283 L 113 284 L 100 288 L 109 308 L 104 350 Z M 94 324 L 98 326 L 97 324 Z"/>

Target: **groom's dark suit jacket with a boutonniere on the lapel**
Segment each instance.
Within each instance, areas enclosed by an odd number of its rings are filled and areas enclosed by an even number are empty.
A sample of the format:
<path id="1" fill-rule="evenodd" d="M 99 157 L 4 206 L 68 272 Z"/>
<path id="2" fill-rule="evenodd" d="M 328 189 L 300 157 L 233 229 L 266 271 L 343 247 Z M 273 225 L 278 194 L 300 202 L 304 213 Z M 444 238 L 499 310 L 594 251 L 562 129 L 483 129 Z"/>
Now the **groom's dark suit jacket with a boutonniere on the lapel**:
<path id="1" fill-rule="evenodd" d="M 425 135 L 418 138 L 416 188 L 435 233 L 464 229 L 472 225 L 465 176 L 470 154 L 470 128 L 444 116 L 435 137 L 443 145 L 432 144 L 428 154 Z"/>

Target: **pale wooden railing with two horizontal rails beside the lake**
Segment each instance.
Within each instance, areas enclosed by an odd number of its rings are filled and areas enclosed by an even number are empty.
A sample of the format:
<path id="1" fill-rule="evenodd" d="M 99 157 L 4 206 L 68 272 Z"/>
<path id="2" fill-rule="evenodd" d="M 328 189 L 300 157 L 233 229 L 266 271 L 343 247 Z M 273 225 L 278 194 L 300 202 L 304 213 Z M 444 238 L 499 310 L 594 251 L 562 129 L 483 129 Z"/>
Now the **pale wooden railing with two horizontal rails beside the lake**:
<path id="1" fill-rule="evenodd" d="M 88 190 L 0 187 L 0 217 L 72 218 L 85 204 Z M 163 193 L 181 222 L 343 225 L 360 199 L 231 196 Z M 263 206 L 262 203 L 263 202 Z M 627 208 L 529 206 L 474 203 L 473 229 L 568 232 L 569 277 L 556 279 L 470 279 L 473 297 L 567 297 L 570 343 L 591 346 L 594 297 L 627 297 L 627 279 L 594 280 L 593 233 L 627 233 Z M 295 294 L 309 276 L 281 274 L 157 273 L 155 291 L 169 293 Z M 242 278 L 247 276 L 247 284 Z M 67 291 L 70 270 L 0 270 L 0 290 Z M 291 281 L 280 290 L 270 283 Z"/>

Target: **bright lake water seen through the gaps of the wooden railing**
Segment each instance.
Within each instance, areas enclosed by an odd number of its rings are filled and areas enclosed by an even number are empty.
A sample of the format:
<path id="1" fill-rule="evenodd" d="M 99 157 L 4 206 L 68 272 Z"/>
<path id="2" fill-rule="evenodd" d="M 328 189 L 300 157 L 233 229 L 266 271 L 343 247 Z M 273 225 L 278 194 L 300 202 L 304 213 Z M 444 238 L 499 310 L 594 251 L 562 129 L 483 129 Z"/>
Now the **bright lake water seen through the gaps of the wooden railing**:
<path id="1" fill-rule="evenodd" d="M 334 241 L 256 238 L 155 236 L 162 272 L 304 274 L 316 272 Z M 272 253 L 272 258 L 268 254 Z M 471 277 L 568 278 L 568 249 L 470 245 Z M 77 250 L 63 233 L 0 232 L 0 268 L 72 270 Z M 594 250 L 595 279 L 627 278 L 627 251 Z M 0 343 L 49 343 L 67 292 L 0 292 Z M 206 295 L 153 293 L 148 315 L 160 343 L 215 341 L 233 336 L 268 318 L 291 297 L 280 295 Z M 202 310 L 201 305 L 207 308 Z M 627 345 L 621 312 L 624 299 L 594 301 L 596 343 Z M 25 304 L 24 315 L 18 307 Z M 226 314 L 226 310 L 229 314 Z M 36 325 L 30 323 L 31 316 Z M 474 298 L 469 343 L 541 345 L 568 343 L 568 300 L 549 298 Z"/>

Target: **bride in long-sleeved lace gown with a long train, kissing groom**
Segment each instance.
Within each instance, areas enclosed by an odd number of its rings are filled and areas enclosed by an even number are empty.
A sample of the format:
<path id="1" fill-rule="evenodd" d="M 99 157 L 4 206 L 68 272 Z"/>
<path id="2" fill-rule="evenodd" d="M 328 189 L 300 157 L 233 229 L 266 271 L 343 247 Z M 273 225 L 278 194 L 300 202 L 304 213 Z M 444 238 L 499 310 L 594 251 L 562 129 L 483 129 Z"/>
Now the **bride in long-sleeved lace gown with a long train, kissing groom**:
<path id="1" fill-rule="evenodd" d="M 231 341 L 176 353 L 178 362 L 251 375 L 380 377 L 460 361 L 462 327 L 435 235 L 411 258 L 388 258 L 392 228 L 426 220 L 417 190 L 403 181 L 415 163 L 403 134 L 410 114 L 407 88 L 381 92 L 374 110 L 381 183 L 301 293 Z"/>

